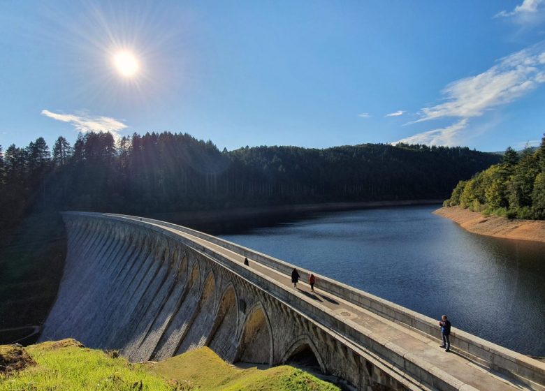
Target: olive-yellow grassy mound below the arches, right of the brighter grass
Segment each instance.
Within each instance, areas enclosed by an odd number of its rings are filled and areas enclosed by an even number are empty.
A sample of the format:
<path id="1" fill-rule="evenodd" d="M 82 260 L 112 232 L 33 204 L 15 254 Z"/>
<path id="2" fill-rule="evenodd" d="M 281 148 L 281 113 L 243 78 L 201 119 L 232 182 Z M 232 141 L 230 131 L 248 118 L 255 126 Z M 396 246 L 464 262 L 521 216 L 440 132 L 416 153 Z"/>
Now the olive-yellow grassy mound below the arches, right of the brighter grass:
<path id="1" fill-rule="evenodd" d="M 269 369 L 240 369 L 227 364 L 209 348 L 199 348 L 157 364 L 146 364 L 147 370 L 180 385 L 199 390 L 339 390 L 293 367 L 282 365 Z"/>

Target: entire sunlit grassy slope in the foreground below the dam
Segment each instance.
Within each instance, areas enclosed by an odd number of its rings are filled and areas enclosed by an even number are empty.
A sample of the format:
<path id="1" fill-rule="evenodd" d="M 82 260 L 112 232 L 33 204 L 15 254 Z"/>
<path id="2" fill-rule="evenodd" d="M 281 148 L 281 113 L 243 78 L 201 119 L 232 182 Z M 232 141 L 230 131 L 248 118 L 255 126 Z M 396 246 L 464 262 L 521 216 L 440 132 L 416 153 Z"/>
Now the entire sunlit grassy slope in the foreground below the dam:
<path id="1" fill-rule="evenodd" d="M 338 390 L 299 369 L 238 369 L 209 348 L 157 364 L 130 364 L 65 339 L 26 348 L 37 365 L 0 374 L 0 391 L 13 390 Z M 2 347 L 0 346 L 0 355 Z M 1 358 L 1 357 L 0 357 Z"/>

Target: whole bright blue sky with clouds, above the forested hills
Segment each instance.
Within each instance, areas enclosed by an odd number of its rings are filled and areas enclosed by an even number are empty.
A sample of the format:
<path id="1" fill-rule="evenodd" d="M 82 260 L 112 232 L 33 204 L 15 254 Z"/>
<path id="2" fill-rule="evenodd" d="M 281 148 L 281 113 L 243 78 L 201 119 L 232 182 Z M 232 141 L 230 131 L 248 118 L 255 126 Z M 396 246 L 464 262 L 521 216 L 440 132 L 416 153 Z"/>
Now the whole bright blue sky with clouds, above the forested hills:
<path id="1" fill-rule="evenodd" d="M 545 0 L 7 1 L 0 45 L 4 149 L 110 130 L 497 151 L 545 132 Z"/>

